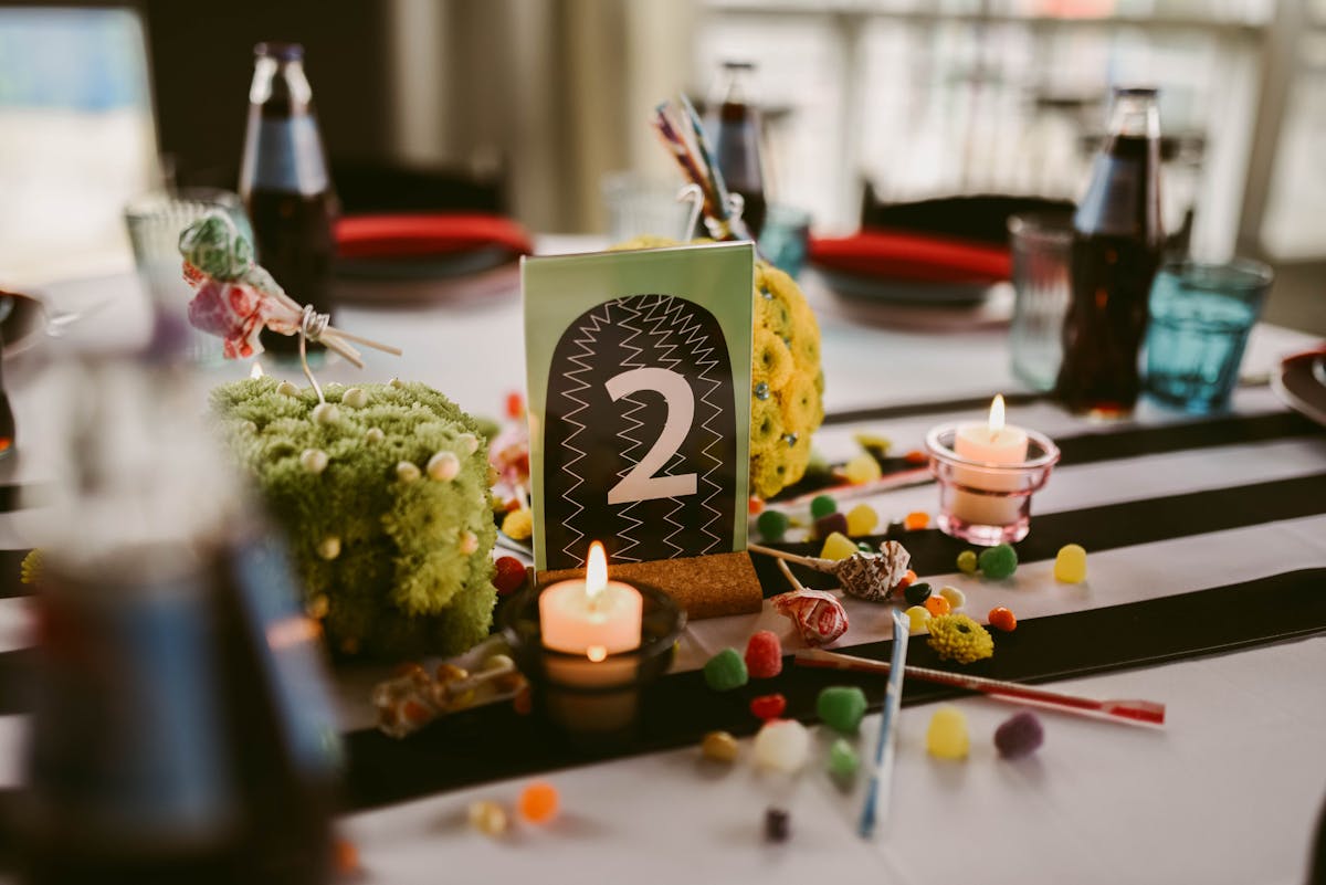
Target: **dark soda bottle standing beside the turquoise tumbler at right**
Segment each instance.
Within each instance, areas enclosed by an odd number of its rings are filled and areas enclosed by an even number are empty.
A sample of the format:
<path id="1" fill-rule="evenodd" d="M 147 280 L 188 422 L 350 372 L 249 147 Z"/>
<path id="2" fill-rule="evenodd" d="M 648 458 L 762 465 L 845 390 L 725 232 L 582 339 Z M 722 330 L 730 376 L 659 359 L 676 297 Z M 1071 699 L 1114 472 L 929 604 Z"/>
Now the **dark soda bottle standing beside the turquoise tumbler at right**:
<path id="1" fill-rule="evenodd" d="M 1073 412 L 1126 417 L 1142 387 L 1138 351 L 1164 248 L 1156 90 L 1115 89 L 1110 130 L 1073 228 L 1073 295 L 1055 396 Z"/>

